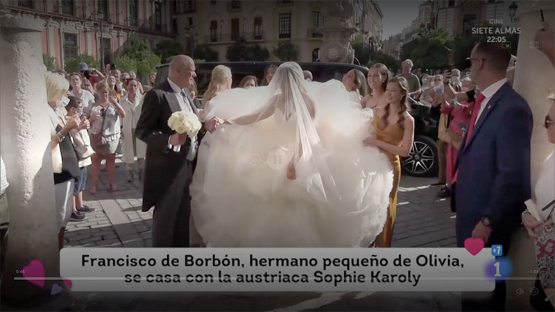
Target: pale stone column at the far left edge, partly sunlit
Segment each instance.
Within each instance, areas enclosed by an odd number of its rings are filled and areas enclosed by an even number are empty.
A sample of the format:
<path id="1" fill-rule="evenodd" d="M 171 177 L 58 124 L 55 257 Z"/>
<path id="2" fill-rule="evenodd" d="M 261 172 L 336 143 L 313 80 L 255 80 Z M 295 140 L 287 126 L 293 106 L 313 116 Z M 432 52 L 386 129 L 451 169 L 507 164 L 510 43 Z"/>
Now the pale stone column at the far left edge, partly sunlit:
<path id="1" fill-rule="evenodd" d="M 42 19 L 0 10 L 0 151 L 10 183 L 1 295 L 14 300 L 50 293 L 54 281 L 46 280 L 40 288 L 14 279 L 32 260 L 42 262 L 46 277 L 60 276 L 50 121 L 44 114 L 43 29 Z"/>

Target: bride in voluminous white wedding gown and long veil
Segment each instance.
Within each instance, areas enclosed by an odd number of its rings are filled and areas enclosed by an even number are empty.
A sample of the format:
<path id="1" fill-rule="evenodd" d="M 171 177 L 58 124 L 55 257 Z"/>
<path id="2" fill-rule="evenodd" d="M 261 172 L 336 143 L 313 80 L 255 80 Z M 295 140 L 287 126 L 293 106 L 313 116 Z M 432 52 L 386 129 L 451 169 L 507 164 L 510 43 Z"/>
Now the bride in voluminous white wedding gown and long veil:
<path id="1" fill-rule="evenodd" d="M 207 247 L 366 247 L 382 231 L 393 173 L 362 141 L 367 113 L 337 80 L 295 62 L 267 87 L 221 92 L 198 149 L 191 213 Z"/>

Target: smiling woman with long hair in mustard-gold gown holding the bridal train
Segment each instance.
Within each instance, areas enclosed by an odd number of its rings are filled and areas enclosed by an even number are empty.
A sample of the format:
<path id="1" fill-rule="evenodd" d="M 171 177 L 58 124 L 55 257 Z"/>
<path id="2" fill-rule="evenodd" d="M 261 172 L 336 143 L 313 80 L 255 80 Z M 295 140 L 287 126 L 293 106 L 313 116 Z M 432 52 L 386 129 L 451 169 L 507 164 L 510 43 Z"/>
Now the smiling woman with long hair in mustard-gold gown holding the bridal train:
<path id="1" fill-rule="evenodd" d="M 389 207 L 386 224 L 382 234 L 379 234 L 374 245 L 376 247 L 390 247 L 393 238 L 393 225 L 397 214 L 397 189 L 401 178 L 400 156 L 407 157 L 414 139 L 414 119 L 409 114 L 407 94 L 409 83 L 403 77 L 388 80 L 386 88 L 387 104 L 377 107 L 372 120 L 376 136 L 364 140 L 366 146 L 380 148 L 389 158 L 393 166 L 393 189 L 389 194 Z"/>

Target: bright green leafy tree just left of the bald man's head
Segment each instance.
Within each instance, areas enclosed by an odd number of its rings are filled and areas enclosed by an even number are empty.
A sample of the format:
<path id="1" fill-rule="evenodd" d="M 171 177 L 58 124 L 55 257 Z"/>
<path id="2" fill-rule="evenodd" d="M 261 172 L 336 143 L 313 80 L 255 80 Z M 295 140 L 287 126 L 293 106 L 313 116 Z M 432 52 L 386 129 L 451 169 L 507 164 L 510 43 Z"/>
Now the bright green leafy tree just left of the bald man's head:
<path id="1" fill-rule="evenodd" d="M 146 40 L 136 40 L 131 42 L 118 58 L 126 60 L 126 65 L 132 64 L 134 60 L 137 66 L 137 76 L 144 79 L 148 73 L 155 71 L 157 65 L 160 65 L 160 55 L 152 51 L 151 46 Z M 117 66 L 117 65 L 116 65 Z"/>

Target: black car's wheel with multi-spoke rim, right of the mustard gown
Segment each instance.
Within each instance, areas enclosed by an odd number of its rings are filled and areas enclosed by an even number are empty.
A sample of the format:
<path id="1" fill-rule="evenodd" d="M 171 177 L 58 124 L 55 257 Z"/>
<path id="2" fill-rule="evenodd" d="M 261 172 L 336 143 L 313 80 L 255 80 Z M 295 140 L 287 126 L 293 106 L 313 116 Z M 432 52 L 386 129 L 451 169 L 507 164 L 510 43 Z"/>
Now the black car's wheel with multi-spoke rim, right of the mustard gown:
<path id="1" fill-rule="evenodd" d="M 438 148 L 436 141 L 418 135 L 414 138 L 408 157 L 401 159 L 404 173 L 415 177 L 433 177 L 438 174 Z"/>

